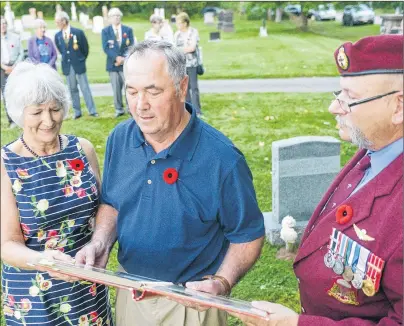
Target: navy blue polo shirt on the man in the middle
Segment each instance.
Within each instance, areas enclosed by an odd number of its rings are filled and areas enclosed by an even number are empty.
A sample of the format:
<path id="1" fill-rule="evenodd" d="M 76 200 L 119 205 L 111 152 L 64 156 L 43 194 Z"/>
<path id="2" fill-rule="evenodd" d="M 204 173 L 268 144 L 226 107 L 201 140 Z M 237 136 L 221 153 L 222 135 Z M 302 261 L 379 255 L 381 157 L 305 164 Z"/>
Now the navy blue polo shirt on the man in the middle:
<path id="1" fill-rule="evenodd" d="M 132 119 L 108 137 L 102 202 L 118 210 L 118 261 L 132 274 L 186 282 L 214 274 L 229 243 L 264 235 L 243 154 L 196 117 L 156 153 Z M 168 168 L 178 172 L 165 181 Z"/>

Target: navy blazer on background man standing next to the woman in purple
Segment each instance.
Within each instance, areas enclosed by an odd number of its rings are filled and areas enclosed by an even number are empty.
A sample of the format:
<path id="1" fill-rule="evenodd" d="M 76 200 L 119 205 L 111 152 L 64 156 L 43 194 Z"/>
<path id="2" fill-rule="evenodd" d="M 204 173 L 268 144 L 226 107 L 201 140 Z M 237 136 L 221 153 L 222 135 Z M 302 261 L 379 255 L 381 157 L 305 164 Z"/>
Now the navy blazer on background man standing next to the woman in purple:
<path id="1" fill-rule="evenodd" d="M 55 44 L 62 55 L 62 71 L 64 75 L 67 76 L 69 74 L 70 65 L 73 66 L 76 74 L 86 72 L 88 42 L 81 29 L 70 26 L 70 37 L 67 46 L 62 31 L 57 32 L 55 35 Z"/>

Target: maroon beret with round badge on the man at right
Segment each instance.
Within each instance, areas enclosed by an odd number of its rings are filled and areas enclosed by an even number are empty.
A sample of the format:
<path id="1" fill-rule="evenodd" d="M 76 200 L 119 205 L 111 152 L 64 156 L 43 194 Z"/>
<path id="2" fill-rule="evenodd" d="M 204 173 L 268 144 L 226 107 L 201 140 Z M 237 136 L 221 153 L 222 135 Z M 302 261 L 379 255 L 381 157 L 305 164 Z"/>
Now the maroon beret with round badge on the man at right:
<path id="1" fill-rule="evenodd" d="M 402 74 L 403 35 L 378 35 L 346 42 L 334 52 L 342 76 Z"/>

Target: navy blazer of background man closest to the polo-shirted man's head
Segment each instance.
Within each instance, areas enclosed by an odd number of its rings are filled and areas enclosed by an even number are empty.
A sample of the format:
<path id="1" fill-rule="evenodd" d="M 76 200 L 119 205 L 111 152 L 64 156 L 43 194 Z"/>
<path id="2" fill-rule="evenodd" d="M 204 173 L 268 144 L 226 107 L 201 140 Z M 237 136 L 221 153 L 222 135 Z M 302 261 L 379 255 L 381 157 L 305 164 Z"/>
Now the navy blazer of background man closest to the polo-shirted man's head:
<path id="1" fill-rule="evenodd" d="M 124 57 L 128 48 L 135 44 L 133 30 L 129 26 L 122 26 L 122 42 L 118 46 L 112 25 L 102 30 L 102 48 L 107 55 L 107 71 L 123 71 L 123 66 L 114 65 L 117 56 Z"/>

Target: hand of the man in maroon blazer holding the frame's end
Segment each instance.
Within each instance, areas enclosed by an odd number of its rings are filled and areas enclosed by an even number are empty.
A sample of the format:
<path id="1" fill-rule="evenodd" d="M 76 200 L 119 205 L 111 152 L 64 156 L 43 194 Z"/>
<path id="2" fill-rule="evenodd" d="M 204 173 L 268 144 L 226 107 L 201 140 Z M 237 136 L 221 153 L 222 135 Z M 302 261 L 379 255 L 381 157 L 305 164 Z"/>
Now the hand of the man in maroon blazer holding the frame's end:
<path id="1" fill-rule="evenodd" d="M 266 311 L 269 314 L 268 320 L 232 312 L 230 315 L 241 319 L 246 326 L 297 326 L 299 315 L 292 309 L 267 301 L 253 301 L 251 304 L 254 308 Z"/>

